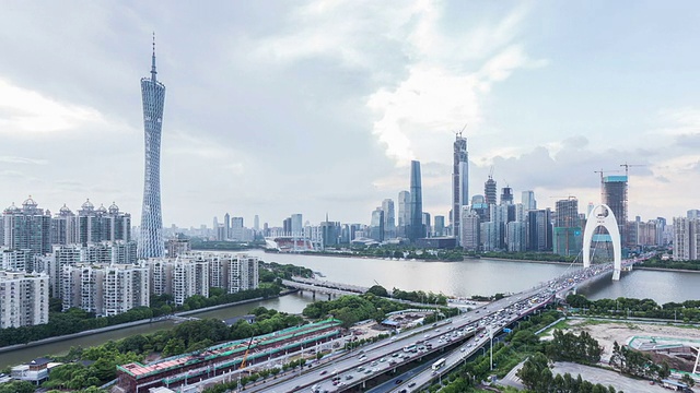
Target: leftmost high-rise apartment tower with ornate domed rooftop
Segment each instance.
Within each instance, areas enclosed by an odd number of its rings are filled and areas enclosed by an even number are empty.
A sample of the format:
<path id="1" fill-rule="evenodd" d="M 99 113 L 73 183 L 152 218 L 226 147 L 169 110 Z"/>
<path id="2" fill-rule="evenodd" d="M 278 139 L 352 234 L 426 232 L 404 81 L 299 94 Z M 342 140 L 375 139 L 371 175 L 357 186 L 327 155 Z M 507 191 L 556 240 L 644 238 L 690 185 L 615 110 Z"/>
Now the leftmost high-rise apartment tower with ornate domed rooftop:
<path id="1" fill-rule="evenodd" d="M 22 209 L 12 204 L 4 210 L 2 221 L 5 247 L 28 250 L 32 255 L 51 251 L 51 214 L 37 206 L 30 196 L 22 203 Z M 31 271 L 30 265 L 27 271 Z"/>

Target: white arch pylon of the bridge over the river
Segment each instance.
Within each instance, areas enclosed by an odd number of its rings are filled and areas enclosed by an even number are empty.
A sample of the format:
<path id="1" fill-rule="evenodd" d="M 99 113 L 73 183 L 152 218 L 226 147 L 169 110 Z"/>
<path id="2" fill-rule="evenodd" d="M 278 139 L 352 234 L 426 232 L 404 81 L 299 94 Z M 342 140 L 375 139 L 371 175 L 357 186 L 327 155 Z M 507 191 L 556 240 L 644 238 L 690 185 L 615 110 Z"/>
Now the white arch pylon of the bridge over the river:
<path id="1" fill-rule="evenodd" d="M 612 279 L 619 281 L 620 271 L 622 271 L 622 246 L 620 243 L 620 229 L 617 226 L 615 214 L 612 214 L 612 211 L 608 205 L 596 205 L 591 211 L 591 214 L 588 214 L 586 227 L 583 231 L 583 267 L 585 269 L 591 266 L 591 241 L 593 240 L 593 234 L 595 233 L 595 229 L 600 226 L 607 229 L 608 234 L 610 234 L 610 238 L 612 240 L 612 254 L 615 258 L 615 270 L 612 272 Z"/>

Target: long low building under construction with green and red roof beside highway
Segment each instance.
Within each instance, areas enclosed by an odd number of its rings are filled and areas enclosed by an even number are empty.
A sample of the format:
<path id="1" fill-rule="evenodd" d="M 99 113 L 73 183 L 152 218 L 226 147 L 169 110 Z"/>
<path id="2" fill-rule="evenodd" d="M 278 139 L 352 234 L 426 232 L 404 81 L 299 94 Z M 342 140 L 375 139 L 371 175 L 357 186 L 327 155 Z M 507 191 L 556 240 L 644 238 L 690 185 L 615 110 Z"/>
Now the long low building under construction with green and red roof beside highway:
<path id="1" fill-rule="evenodd" d="M 328 319 L 246 340 L 219 344 L 201 352 L 172 356 L 149 365 L 131 362 L 117 366 L 117 386 L 124 392 L 148 392 L 151 388 L 173 388 L 196 383 L 255 365 L 311 348 L 340 336 L 340 321 Z M 247 353 L 247 355 L 246 355 Z"/>

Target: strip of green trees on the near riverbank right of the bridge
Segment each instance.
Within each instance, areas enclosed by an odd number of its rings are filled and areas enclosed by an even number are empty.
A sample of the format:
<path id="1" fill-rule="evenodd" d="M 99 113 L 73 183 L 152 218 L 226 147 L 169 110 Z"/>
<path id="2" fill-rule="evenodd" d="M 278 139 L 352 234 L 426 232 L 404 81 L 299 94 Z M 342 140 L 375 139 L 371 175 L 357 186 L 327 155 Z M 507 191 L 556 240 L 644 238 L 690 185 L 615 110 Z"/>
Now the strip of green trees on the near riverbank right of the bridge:
<path id="1" fill-rule="evenodd" d="M 658 306 L 652 299 L 599 299 L 588 300 L 582 295 L 567 296 L 567 303 L 586 315 L 656 318 L 676 321 L 700 321 L 700 300 L 682 303 L 668 302 Z"/>

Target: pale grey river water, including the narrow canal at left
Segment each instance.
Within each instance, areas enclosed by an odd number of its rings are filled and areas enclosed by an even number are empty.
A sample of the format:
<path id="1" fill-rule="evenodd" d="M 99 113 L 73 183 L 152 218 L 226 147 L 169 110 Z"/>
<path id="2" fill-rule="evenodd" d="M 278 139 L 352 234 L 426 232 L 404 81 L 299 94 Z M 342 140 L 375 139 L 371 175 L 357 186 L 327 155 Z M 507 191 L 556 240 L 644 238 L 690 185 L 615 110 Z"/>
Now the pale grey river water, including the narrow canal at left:
<path id="1" fill-rule="evenodd" d="M 266 262 L 291 263 L 308 267 L 325 276 L 320 279 L 368 287 L 378 283 L 389 290 L 394 287 L 402 290 L 422 289 L 459 297 L 516 293 L 559 276 L 568 270 L 579 267 L 488 259 L 465 260 L 463 262 L 422 262 L 276 254 L 265 253 L 260 250 L 253 250 L 248 253 L 257 255 Z M 600 279 L 579 288 L 579 293 L 591 299 L 651 298 L 658 303 L 696 300 L 700 299 L 700 273 L 626 272 L 619 282 Z M 223 320 L 246 314 L 259 306 L 300 313 L 311 301 L 312 299 L 306 295 L 288 295 L 276 299 L 203 311 L 192 314 L 192 317 Z M 0 368 L 28 361 L 44 355 L 65 354 L 71 346 L 86 347 L 109 340 L 119 340 L 133 334 L 147 334 L 172 326 L 172 321 L 163 321 L 0 354 Z"/>

